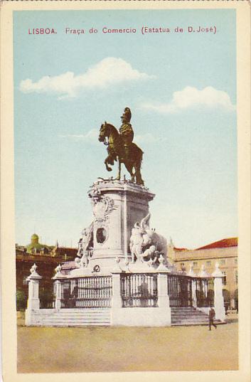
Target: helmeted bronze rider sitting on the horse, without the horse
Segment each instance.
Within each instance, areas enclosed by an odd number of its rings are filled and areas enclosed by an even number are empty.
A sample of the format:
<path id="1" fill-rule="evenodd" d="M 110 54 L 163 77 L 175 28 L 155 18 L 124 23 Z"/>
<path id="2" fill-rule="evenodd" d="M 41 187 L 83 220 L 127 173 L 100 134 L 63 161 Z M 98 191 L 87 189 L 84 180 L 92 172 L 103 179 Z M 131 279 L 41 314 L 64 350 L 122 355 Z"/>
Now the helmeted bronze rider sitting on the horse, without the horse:
<path id="1" fill-rule="evenodd" d="M 124 113 L 121 116 L 122 120 L 122 125 L 119 129 L 119 135 L 120 139 L 122 141 L 123 145 L 123 159 L 131 159 L 129 158 L 129 152 L 130 152 L 130 147 L 132 146 L 132 141 L 134 139 L 134 131 L 132 129 L 132 124 L 130 124 L 130 120 L 132 118 L 132 113 L 129 107 L 126 107 L 124 109 Z"/>

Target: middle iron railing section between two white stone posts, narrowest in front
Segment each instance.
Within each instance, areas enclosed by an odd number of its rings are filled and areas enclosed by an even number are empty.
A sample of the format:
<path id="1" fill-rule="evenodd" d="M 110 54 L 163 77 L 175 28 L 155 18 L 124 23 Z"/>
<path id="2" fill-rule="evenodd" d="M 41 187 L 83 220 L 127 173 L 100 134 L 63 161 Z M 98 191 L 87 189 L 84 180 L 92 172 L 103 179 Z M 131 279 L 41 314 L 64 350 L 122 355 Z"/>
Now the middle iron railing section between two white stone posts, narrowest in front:
<path id="1" fill-rule="evenodd" d="M 151 273 L 122 274 L 120 289 L 122 307 L 157 307 L 158 275 Z"/>

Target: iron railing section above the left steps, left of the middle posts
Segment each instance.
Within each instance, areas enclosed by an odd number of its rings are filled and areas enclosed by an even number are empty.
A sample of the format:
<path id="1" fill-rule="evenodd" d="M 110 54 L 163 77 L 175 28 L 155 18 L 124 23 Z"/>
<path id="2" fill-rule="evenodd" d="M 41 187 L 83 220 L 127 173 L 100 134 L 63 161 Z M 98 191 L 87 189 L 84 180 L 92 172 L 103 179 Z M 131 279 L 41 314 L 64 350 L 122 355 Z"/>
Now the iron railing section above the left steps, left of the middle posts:
<path id="1" fill-rule="evenodd" d="M 62 308 L 111 307 L 112 276 L 78 277 L 62 281 Z"/>

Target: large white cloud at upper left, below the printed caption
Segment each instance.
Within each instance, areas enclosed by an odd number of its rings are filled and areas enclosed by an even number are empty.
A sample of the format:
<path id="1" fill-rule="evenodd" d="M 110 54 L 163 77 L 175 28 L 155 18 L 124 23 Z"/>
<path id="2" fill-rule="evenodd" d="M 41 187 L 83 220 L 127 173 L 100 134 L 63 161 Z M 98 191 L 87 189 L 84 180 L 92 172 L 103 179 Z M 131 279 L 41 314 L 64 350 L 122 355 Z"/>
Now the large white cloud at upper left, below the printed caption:
<path id="1" fill-rule="evenodd" d="M 80 90 L 100 89 L 120 83 L 155 78 L 154 75 L 141 73 L 133 69 L 130 63 L 122 58 L 107 57 L 92 65 L 85 73 L 75 75 L 67 72 L 54 77 L 46 75 L 37 82 L 31 79 L 22 80 L 20 90 L 24 93 L 55 93 L 63 97 L 76 97 Z M 63 96 L 63 97 L 62 97 Z"/>

